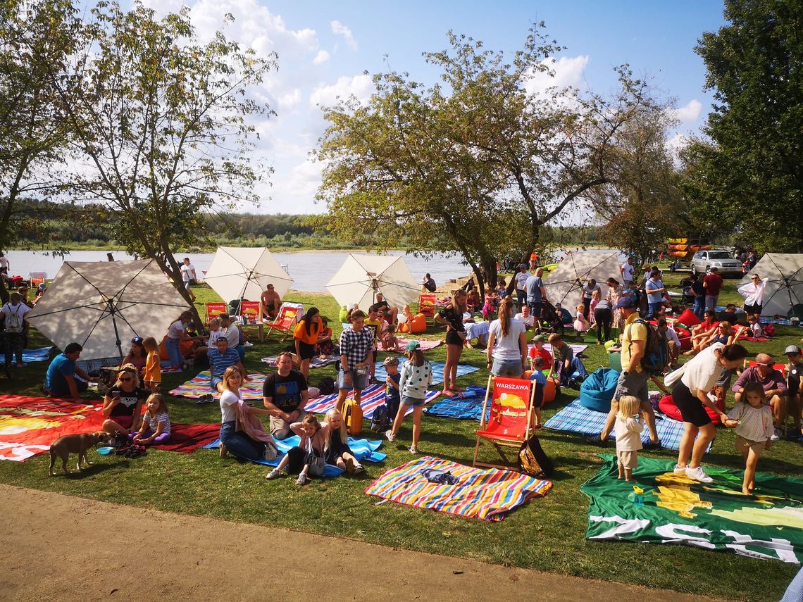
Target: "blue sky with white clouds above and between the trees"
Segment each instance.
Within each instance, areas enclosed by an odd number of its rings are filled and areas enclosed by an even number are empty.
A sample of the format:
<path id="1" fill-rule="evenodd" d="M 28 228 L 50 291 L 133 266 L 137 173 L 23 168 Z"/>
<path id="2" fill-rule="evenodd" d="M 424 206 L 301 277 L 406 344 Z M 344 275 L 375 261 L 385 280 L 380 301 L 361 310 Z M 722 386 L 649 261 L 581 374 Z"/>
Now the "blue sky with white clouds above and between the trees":
<path id="1" fill-rule="evenodd" d="M 676 100 L 681 121 L 675 141 L 698 132 L 711 106 L 703 90 L 705 67 L 694 52 L 703 31 L 724 24 L 716 0 L 599 0 L 563 2 L 319 2 L 271 0 L 143 0 L 164 14 L 190 7 L 200 39 L 222 29 L 223 15 L 234 22 L 229 39 L 260 54 L 279 55 L 277 71 L 259 91 L 275 117 L 260 123 L 256 155 L 271 165 L 271 185 L 258 189 L 262 201 L 243 210 L 261 214 L 320 214 L 315 202 L 320 164 L 310 157 L 324 132 L 320 106 L 338 96 L 365 100 L 370 75 L 406 71 L 411 79 L 434 83 L 438 72 L 422 52 L 448 46 L 446 32 L 482 40 L 484 46 L 513 53 L 532 22 L 567 49 L 556 57 L 556 83 L 595 92 L 613 92 L 613 67 L 630 63 L 637 76 L 650 76 L 663 96 Z"/>

